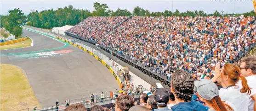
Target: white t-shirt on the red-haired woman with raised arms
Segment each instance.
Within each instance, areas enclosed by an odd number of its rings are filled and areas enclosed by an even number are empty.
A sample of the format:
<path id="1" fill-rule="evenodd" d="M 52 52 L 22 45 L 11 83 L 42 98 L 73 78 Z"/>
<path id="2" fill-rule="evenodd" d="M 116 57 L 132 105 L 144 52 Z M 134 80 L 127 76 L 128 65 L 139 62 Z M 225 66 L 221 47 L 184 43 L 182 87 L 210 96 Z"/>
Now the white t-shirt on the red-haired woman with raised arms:
<path id="1" fill-rule="evenodd" d="M 228 89 L 221 88 L 219 96 L 222 101 L 229 101 L 238 108 L 238 111 L 248 111 L 249 99 L 246 93 L 240 92 L 241 87 L 232 86 Z"/>

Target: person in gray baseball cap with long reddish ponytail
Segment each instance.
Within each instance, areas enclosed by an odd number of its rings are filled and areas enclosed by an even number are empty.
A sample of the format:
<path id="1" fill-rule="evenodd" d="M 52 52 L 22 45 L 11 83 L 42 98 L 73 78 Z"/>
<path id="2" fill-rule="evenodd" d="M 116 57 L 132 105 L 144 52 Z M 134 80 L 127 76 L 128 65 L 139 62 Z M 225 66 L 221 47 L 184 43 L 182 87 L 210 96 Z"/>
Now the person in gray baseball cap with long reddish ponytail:
<path id="1" fill-rule="evenodd" d="M 229 101 L 222 102 L 218 87 L 211 80 L 195 81 L 195 87 L 199 99 L 209 107 L 208 111 L 238 111 Z"/>

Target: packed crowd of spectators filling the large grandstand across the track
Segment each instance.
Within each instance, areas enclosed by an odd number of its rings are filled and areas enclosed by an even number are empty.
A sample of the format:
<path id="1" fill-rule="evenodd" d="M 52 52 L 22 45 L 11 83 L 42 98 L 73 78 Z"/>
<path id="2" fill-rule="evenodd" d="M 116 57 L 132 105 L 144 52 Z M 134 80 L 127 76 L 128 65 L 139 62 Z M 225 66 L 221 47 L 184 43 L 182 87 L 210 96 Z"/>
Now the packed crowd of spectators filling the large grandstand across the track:
<path id="1" fill-rule="evenodd" d="M 216 63 L 233 63 L 242 50 L 255 46 L 255 17 L 133 16 L 123 22 L 127 18 L 89 17 L 68 32 L 164 76 L 171 68 L 206 75 Z"/>

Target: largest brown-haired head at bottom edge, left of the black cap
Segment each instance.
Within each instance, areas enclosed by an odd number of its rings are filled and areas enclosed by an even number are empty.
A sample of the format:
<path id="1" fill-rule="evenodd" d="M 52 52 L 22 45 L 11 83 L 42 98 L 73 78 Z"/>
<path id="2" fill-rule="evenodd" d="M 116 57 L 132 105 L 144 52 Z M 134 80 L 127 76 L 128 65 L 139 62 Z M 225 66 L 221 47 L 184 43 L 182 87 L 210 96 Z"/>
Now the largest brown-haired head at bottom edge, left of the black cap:
<path id="1" fill-rule="evenodd" d="M 131 95 L 119 95 L 115 101 L 115 111 L 129 111 L 134 106 L 134 100 Z"/>

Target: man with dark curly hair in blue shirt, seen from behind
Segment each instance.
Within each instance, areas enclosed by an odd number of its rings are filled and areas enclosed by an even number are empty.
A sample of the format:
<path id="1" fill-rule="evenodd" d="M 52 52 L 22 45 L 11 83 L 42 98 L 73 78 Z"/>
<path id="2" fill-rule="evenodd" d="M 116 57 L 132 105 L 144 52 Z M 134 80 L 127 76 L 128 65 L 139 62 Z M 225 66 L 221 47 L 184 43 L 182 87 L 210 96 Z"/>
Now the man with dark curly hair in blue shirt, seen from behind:
<path id="1" fill-rule="evenodd" d="M 192 100 L 194 81 L 191 74 L 183 70 L 176 70 L 171 77 L 171 92 L 176 105 L 171 106 L 173 111 L 207 111 L 206 107 Z"/>

